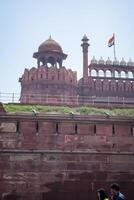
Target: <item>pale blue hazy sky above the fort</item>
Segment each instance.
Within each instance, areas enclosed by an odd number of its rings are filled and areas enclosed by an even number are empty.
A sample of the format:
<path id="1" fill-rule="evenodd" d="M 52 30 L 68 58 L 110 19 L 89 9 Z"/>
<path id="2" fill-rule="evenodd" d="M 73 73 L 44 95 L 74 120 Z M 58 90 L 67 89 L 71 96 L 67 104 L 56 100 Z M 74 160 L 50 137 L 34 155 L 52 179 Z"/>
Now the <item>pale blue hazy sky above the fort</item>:
<path id="1" fill-rule="evenodd" d="M 20 92 L 19 77 L 36 66 L 33 52 L 50 34 L 68 54 L 64 66 L 80 78 L 83 35 L 90 39 L 89 62 L 94 55 L 113 60 L 107 47 L 113 32 L 117 58 L 134 61 L 133 0 L 1 0 L 0 92 Z"/>

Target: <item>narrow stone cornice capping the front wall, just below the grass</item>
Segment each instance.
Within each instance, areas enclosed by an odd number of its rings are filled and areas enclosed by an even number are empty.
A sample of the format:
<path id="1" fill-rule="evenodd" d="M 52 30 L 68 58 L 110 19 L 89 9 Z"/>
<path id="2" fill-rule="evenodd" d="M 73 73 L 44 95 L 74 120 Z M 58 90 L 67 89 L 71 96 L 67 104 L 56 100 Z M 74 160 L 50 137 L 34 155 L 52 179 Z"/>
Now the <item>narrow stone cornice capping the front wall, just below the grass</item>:
<path id="1" fill-rule="evenodd" d="M 0 113 L 0 121 L 77 121 L 78 123 L 134 123 L 134 117 L 78 114 L 45 114 L 45 113 Z"/>

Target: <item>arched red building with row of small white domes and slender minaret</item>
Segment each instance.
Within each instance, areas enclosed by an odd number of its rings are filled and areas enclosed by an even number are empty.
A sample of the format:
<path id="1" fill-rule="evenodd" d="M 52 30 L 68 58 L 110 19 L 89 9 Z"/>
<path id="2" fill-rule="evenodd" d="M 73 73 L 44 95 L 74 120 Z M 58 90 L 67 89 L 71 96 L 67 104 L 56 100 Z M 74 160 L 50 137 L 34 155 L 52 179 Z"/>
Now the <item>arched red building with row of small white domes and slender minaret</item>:
<path id="1" fill-rule="evenodd" d="M 89 44 L 87 43 L 86 46 L 85 52 L 83 42 L 83 59 L 88 60 Z M 83 63 L 85 62 L 83 61 Z M 93 57 L 87 65 L 86 73 L 85 75 L 85 65 L 83 64 L 84 76 L 78 82 L 80 96 L 134 98 L 134 63 L 131 59 L 126 62 L 122 58 L 119 62 L 117 58 L 114 61 L 111 61 L 110 58 L 104 61 L 100 57 L 97 61 Z M 84 77 L 88 77 L 86 83 Z"/>

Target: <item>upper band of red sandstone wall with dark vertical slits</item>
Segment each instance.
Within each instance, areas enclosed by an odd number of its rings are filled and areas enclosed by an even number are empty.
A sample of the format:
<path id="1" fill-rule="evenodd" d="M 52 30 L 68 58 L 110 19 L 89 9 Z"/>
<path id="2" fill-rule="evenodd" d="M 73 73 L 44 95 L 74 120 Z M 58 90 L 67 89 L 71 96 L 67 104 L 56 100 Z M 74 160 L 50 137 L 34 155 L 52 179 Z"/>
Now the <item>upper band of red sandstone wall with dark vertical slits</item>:
<path id="1" fill-rule="evenodd" d="M 49 116 L 49 115 L 48 115 Z M 55 116 L 55 115 L 54 115 Z M 132 152 L 134 122 L 118 118 L 73 115 L 10 118 L 1 120 L 1 148 L 107 150 Z M 117 120 L 117 121 L 116 121 Z M 55 146 L 56 145 L 56 146 Z M 113 148 L 114 146 L 114 148 Z M 115 148 L 116 147 L 116 148 Z M 125 148 L 126 147 L 126 148 Z M 125 150 L 125 151 L 126 151 Z"/>

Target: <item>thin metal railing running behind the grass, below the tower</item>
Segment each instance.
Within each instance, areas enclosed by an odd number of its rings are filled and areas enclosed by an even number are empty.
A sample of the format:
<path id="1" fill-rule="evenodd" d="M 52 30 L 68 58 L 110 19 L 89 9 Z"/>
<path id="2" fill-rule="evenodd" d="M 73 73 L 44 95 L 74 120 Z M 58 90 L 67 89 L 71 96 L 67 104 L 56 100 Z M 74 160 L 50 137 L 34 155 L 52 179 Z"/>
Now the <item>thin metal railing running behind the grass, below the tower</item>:
<path id="1" fill-rule="evenodd" d="M 0 102 L 2 103 L 20 103 L 19 93 L 3 93 L 0 92 Z M 38 95 L 28 94 L 21 99 L 22 103 L 39 103 L 39 104 L 62 104 L 62 105 L 97 105 L 106 104 L 113 105 L 119 104 L 134 105 L 134 98 L 130 97 L 96 97 L 96 96 L 65 96 L 65 95 Z"/>

